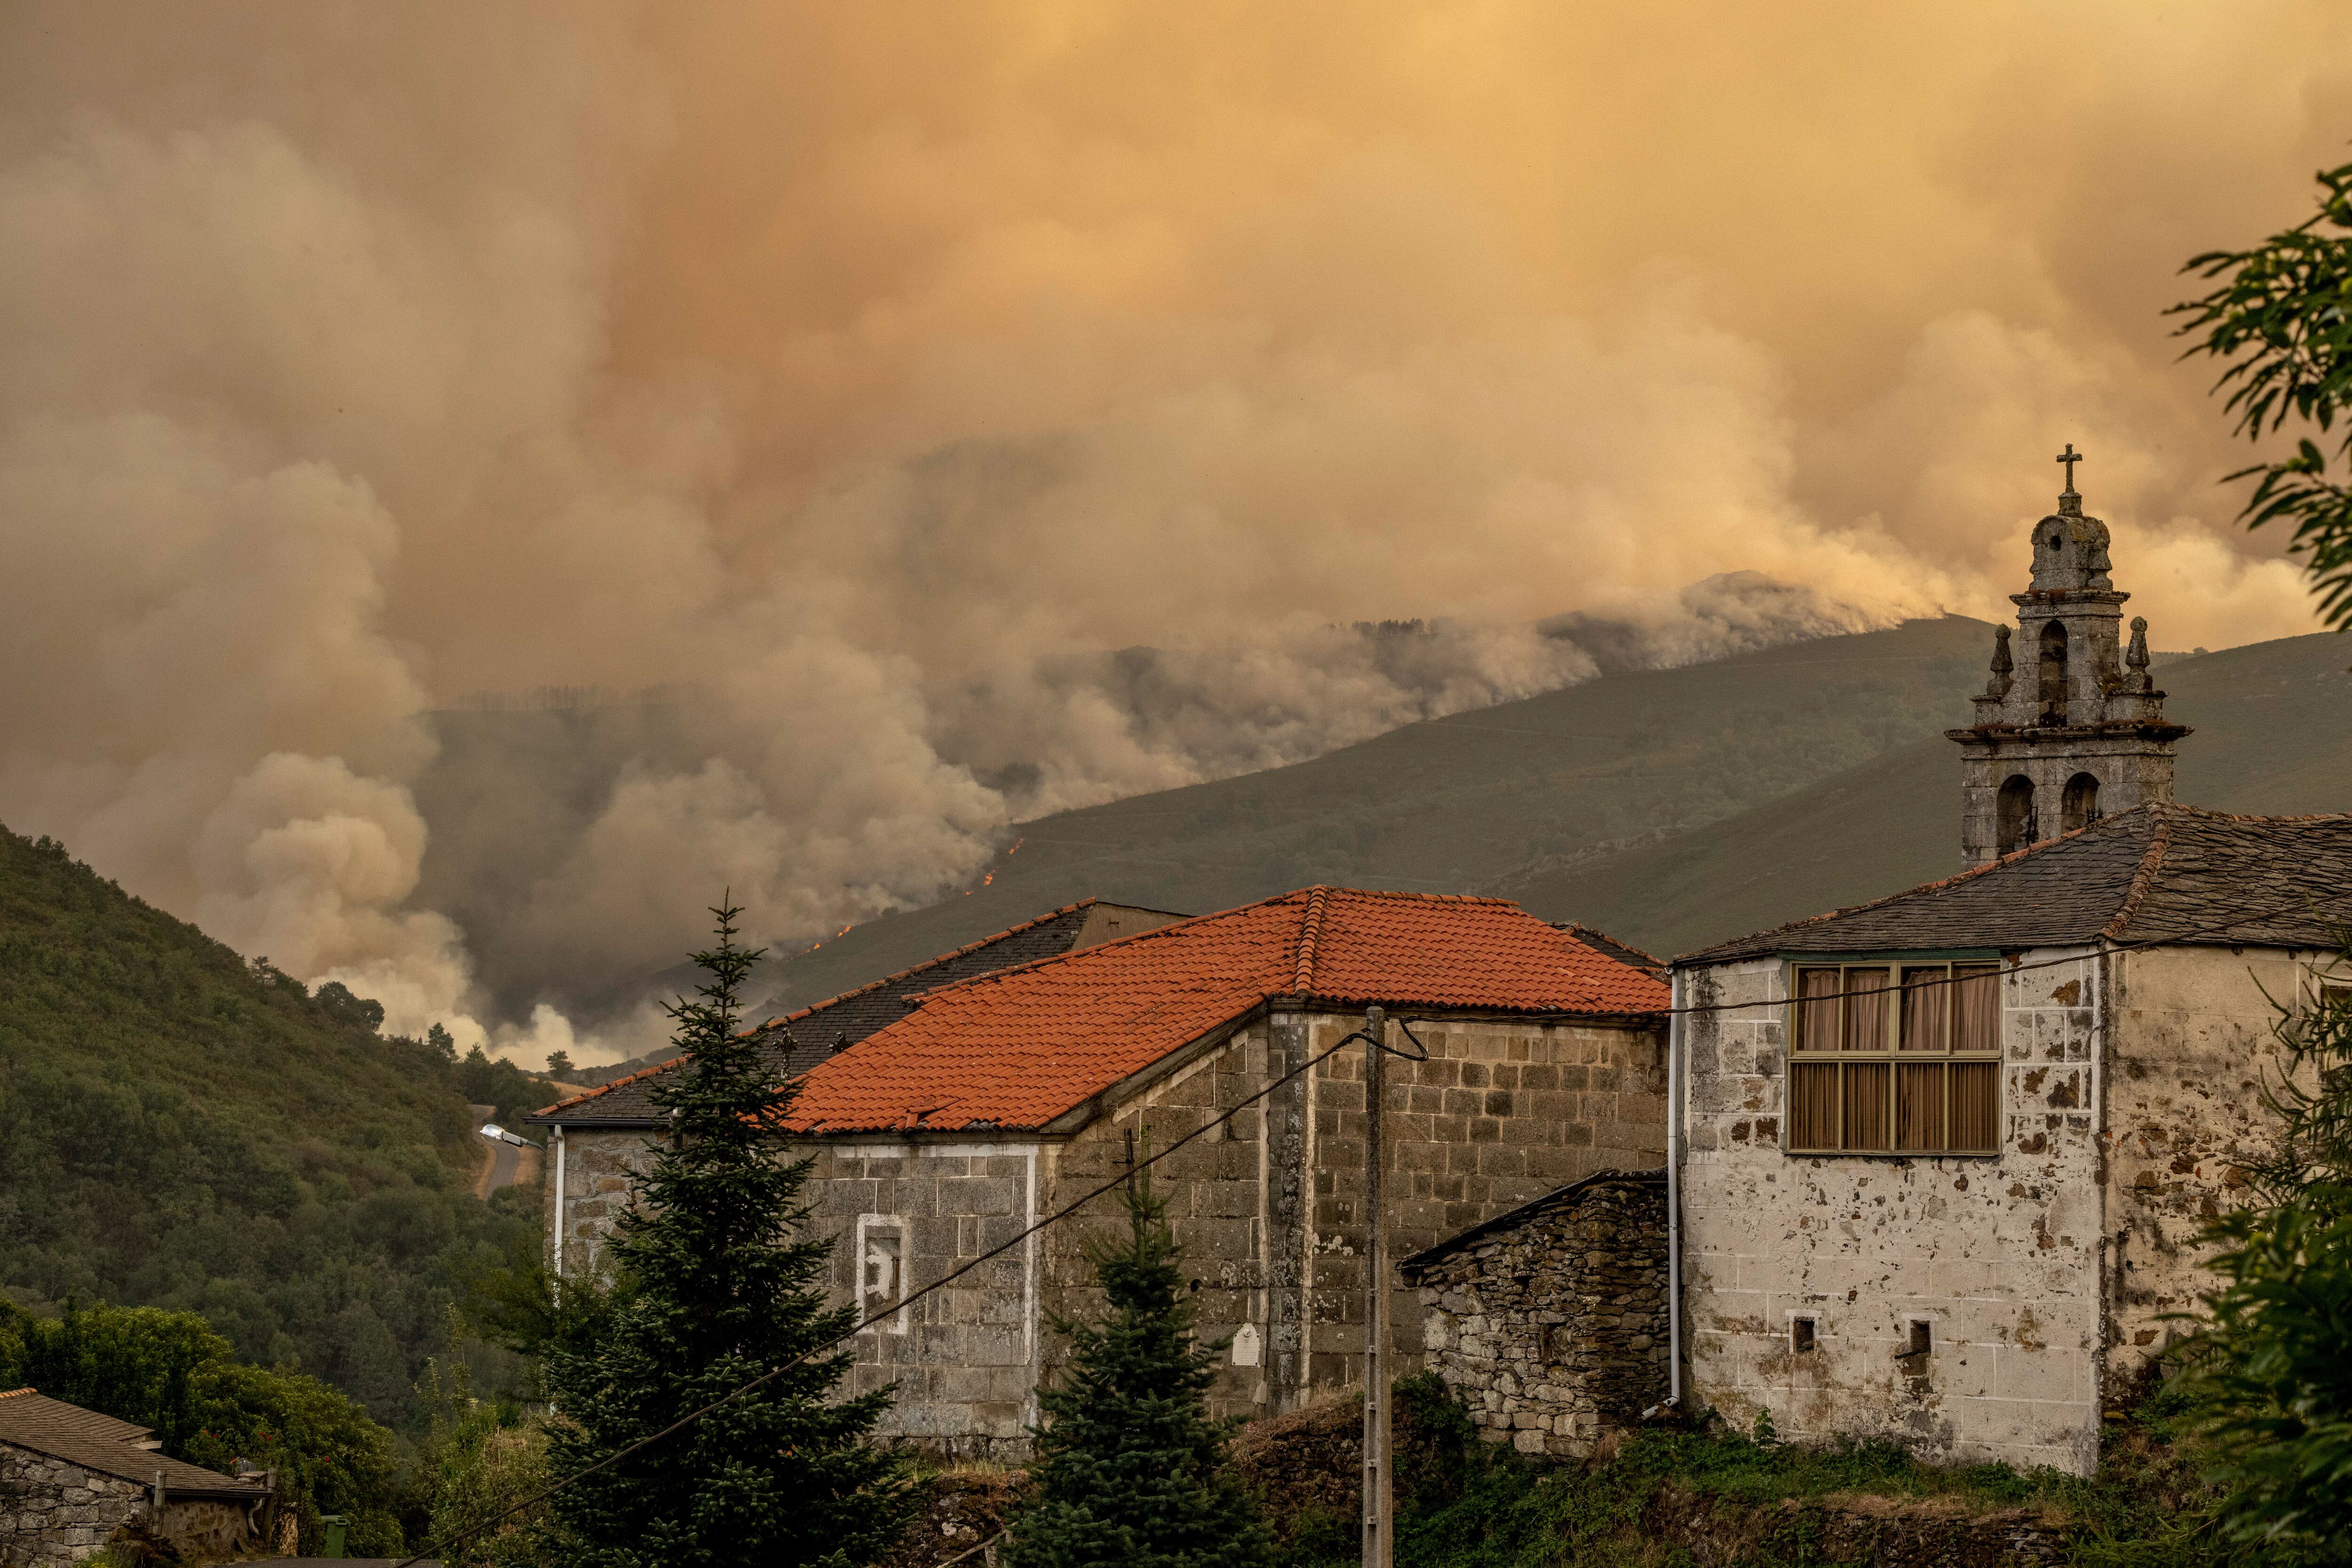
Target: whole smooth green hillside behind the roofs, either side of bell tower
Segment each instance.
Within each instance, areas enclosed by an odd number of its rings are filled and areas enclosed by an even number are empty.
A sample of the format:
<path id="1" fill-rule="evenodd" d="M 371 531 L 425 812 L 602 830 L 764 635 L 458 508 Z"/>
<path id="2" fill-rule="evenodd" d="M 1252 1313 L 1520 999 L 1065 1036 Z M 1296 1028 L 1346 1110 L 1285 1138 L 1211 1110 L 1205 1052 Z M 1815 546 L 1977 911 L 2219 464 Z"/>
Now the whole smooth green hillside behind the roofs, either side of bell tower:
<path id="1" fill-rule="evenodd" d="M 1950 616 L 1409 724 L 1289 769 L 1025 823 L 993 882 L 779 964 L 771 1011 L 1084 896 L 1202 914 L 1312 882 L 1501 893 L 1649 947 L 1959 870 L 1959 757 L 1992 628 Z M 2352 811 L 2352 644 L 2169 658 L 2180 799 Z"/>

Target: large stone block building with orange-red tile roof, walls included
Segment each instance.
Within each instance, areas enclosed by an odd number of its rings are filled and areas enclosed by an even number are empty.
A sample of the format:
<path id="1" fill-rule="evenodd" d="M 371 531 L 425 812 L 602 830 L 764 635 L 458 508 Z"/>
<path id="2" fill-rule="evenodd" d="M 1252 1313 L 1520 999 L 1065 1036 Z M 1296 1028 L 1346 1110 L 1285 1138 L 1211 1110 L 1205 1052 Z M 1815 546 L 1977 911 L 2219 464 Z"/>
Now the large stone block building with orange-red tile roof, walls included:
<path id="1" fill-rule="evenodd" d="M 941 1453 L 1028 1453 L 1061 1354 L 1049 1321 L 1096 1307 L 1084 1244 L 1117 1208 L 1103 1199 L 910 1298 L 1188 1133 L 1202 1135 L 1152 1180 L 1202 1335 L 1230 1340 L 1214 1410 L 1287 1413 L 1359 1380 L 1362 1044 L 1338 1044 L 1367 1006 L 1392 1013 L 1397 1048 L 1411 1051 L 1404 1018 L 1428 1051 L 1385 1079 L 1399 1253 L 1665 1152 L 1651 959 L 1508 900 L 1301 889 L 957 973 L 971 957 L 948 954 L 929 985 L 896 980 L 898 1016 L 809 1067 L 781 1119 L 816 1159 L 811 1222 L 840 1237 L 835 1298 L 877 1319 L 856 1335 L 854 1385 L 896 1382 L 889 1432 Z M 779 1034 L 797 1041 L 828 1011 Z M 536 1121 L 576 1145 L 586 1112 L 572 1100 Z M 600 1244 L 659 1126 L 626 1135 L 595 1225 L 576 1190 L 560 1206 L 567 1269 Z M 1421 1361 L 1411 1305 L 1390 1307 L 1399 1371 Z"/>

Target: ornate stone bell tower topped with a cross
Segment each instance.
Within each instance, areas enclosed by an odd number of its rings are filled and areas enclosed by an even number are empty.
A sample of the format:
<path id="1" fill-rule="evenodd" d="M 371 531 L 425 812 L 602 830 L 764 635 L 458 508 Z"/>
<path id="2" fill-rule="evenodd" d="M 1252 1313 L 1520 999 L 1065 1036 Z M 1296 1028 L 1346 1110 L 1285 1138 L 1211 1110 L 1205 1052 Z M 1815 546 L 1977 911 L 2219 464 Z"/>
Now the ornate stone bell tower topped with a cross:
<path id="1" fill-rule="evenodd" d="M 1976 698 L 1976 724 L 1945 731 L 1959 743 L 1969 865 L 2169 802 L 2173 741 L 2190 733 L 2164 719 L 2164 693 L 2147 672 L 2147 621 L 2133 616 L 2131 646 L 2122 649 L 2131 595 L 2107 576 L 2107 524 L 2082 510 L 2072 442 L 2058 461 L 2065 491 L 2034 524 L 2032 588 L 2009 595 L 2018 635 L 1992 630 L 1992 679 Z"/>

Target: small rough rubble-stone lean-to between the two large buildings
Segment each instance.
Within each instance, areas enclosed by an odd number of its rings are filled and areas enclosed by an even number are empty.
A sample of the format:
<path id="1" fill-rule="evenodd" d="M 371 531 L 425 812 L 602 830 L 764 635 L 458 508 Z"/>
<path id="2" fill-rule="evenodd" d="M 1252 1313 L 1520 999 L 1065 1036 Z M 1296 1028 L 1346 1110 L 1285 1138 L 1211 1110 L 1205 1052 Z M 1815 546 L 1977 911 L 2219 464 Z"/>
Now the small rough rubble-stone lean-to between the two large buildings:
<path id="1" fill-rule="evenodd" d="M 1665 1171 L 1595 1171 L 1397 1265 L 1489 1441 L 1585 1455 L 1668 1394 Z"/>

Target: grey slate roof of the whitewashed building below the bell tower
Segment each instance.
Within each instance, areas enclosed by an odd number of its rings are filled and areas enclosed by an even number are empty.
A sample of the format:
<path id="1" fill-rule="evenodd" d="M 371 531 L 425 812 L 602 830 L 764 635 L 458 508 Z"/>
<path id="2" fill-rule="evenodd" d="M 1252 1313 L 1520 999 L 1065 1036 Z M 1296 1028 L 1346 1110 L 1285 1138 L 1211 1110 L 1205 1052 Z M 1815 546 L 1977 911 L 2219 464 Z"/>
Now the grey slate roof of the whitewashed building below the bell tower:
<path id="1" fill-rule="evenodd" d="M 2333 947 L 2343 926 L 2352 926 L 2352 813 L 2136 806 L 1947 882 L 1686 952 L 1675 966 L 2098 940 Z"/>

